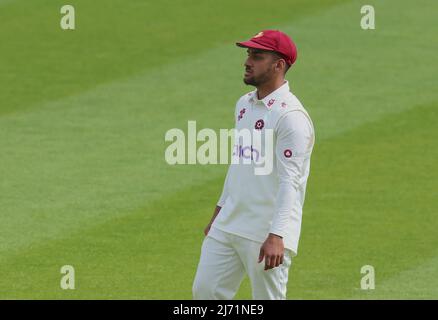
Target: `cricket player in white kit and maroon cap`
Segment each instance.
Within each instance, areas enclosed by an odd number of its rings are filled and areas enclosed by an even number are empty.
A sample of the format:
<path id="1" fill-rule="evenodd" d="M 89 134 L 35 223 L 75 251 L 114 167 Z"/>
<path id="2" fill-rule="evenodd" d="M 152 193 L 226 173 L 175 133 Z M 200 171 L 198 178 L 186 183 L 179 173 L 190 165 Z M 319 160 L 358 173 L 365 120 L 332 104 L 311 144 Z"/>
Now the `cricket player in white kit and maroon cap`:
<path id="1" fill-rule="evenodd" d="M 315 133 L 309 114 L 285 80 L 297 58 L 292 40 L 278 30 L 264 30 L 236 44 L 248 53 L 243 81 L 256 88 L 236 104 L 236 129 L 272 129 L 274 165 L 266 175 L 254 174 L 248 164 L 229 166 L 204 230 L 193 298 L 232 299 L 247 274 L 253 299 L 286 299 Z M 261 152 L 252 145 L 234 149 L 251 159 Z"/>

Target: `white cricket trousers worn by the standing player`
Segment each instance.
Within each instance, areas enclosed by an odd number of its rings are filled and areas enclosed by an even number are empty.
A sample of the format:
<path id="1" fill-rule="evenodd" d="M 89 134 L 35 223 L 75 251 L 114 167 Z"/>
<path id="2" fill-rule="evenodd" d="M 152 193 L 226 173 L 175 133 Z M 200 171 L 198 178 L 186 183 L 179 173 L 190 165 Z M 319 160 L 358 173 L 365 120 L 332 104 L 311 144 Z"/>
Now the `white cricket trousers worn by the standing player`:
<path id="1" fill-rule="evenodd" d="M 264 270 L 258 263 L 262 243 L 212 228 L 204 238 L 201 257 L 193 282 L 195 300 L 231 300 L 248 275 L 255 300 L 286 299 L 292 252 L 284 251 L 283 264 Z"/>

